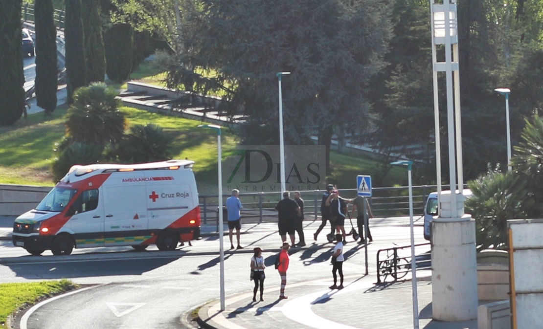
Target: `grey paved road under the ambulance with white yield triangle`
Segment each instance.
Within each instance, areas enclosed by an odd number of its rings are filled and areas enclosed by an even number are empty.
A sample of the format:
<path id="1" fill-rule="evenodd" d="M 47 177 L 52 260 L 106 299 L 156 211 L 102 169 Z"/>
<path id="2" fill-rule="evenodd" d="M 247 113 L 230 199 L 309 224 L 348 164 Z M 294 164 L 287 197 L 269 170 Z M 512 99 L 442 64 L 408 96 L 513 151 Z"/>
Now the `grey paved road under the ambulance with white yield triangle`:
<path id="1" fill-rule="evenodd" d="M 318 224 L 307 223 L 307 236 L 312 235 Z M 374 243 L 369 245 L 368 252 L 373 277 L 378 249 L 409 243 L 409 227 L 395 226 L 400 224 L 397 222 L 391 222 L 394 226 L 385 224 L 380 223 L 372 229 Z M 242 245 L 247 249 L 225 256 L 228 295 L 252 289 L 248 271 L 250 249 L 258 245 L 271 250 L 280 245 L 276 224 L 246 224 L 244 229 Z M 422 227 L 416 227 L 416 236 L 422 236 Z M 324 235 L 318 243 L 309 243 L 310 248 L 293 250 L 289 283 L 330 276 L 332 245 L 324 244 L 323 240 Z M 68 327 L 74 328 L 180 328 L 182 315 L 219 295 L 217 237 L 205 238 L 194 242 L 192 247 L 184 246 L 171 252 L 154 248 L 142 253 L 96 248 L 76 250 L 77 254 L 69 257 L 26 256 L 24 250 L 10 246 L 9 241 L 0 243 L 2 282 L 66 277 L 75 283 L 100 284 L 38 308 L 29 315 L 27 328 L 59 328 L 67 324 L 73 324 Z M 350 242 L 345 249 L 349 257 L 344 266 L 345 274 L 364 273 L 362 246 Z M 264 252 L 266 263 L 272 268 L 275 255 L 275 251 Z M 274 270 L 268 270 L 267 287 L 279 284 L 275 274 Z M 271 294 L 264 296 L 275 299 L 276 292 Z"/>

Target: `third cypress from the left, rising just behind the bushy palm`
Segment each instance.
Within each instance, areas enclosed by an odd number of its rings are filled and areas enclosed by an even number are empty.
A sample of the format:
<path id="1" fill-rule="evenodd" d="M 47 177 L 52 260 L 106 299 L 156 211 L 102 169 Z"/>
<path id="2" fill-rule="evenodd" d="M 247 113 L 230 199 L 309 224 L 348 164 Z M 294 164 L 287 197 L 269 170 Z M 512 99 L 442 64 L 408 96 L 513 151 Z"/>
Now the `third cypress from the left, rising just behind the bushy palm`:
<path id="1" fill-rule="evenodd" d="M 85 37 L 81 19 L 81 0 L 65 0 L 66 23 L 64 41 L 66 43 L 66 74 L 68 103 L 73 103 L 73 93 L 87 85 L 85 65 Z"/>

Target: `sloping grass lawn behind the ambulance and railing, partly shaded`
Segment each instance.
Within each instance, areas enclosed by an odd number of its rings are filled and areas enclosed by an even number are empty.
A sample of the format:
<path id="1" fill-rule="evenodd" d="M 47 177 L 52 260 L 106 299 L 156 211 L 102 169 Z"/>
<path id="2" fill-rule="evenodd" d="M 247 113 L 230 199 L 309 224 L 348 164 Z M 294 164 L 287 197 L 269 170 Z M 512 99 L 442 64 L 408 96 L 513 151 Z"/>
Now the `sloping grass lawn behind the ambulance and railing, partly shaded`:
<path id="1" fill-rule="evenodd" d="M 122 107 L 127 113 L 128 125 L 155 123 L 174 135 L 172 155 L 174 159 L 195 161 L 193 168 L 200 194 L 217 193 L 217 135 L 207 129 L 195 129 L 200 121 L 171 117 Z M 66 107 L 59 107 L 52 116 L 43 113 L 28 116 L 10 127 L 0 128 L 0 183 L 53 186 L 50 166 L 55 157 L 55 142 L 65 132 L 64 118 Z M 236 136 L 224 129 L 222 143 L 224 148 L 234 147 Z M 340 188 L 354 188 L 356 175 L 374 175 L 377 172 L 376 160 L 332 152 L 333 168 L 328 181 Z M 403 182 L 405 169 L 393 168 L 384 180 L 384 186 Z"/>

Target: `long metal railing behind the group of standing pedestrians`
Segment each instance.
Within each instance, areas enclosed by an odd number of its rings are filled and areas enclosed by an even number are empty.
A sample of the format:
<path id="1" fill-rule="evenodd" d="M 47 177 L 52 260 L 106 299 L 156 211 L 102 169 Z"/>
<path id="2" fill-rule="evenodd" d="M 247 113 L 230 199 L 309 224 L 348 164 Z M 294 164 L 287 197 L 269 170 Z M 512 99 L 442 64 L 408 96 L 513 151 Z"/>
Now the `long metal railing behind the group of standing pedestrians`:
<path id="1" fill-rule="evenodd" d="M 448 186 L 443 186 L 447 189 Z M 424 206 L 428 194 L 437 189 L 435 185 L 413 186 L 413 214 L 421 216 L 424 214 Z M 356 189 L 340 189 L 343 198 L 353 199 L 356 197 Z M 304 213 L 306 219 L 317 219 L 320 216 L 320 203 L 323 191 L 300 191 L 304 199 Z M 223 195 L 223 201 L 230 195 Z M 260 192 L 239 194 L 243 204 L 242 218 L 244 222 L 262 223 L 277 220 L 274 207 L 281 200 L 279 192 Z M 200 195 L 201 218 L 204 224 L 217 221 L 217 195 Z M 409 195 L 408 188 L 402 187 L 376 187 L 372 188 L 372 197 L 369 198 L 374 217 L 397 217 L 409 216 Z"/>

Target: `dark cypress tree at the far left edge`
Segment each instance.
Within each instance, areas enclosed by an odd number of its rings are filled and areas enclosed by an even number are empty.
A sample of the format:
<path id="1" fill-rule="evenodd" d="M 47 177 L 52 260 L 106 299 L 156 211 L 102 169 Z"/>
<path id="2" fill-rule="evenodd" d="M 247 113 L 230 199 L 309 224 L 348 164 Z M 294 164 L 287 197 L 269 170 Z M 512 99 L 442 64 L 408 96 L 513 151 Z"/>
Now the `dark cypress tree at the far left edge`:
<path id="1" fill-rule="evenodd" d="M 14 124 L 24 109 L 21 5 L 0 1 L 0 125 Z"/>

